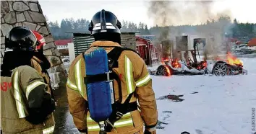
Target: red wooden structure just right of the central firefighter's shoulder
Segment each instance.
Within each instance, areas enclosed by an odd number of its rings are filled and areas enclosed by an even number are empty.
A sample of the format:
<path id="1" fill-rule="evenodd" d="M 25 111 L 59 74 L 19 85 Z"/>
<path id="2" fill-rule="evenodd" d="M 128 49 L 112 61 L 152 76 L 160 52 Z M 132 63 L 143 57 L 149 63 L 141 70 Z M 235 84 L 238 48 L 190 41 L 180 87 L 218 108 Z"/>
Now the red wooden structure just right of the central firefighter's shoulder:
<path id="1" fill-rule="evenodd" d="M 153 46 L 150 40 L 142 37 L 136 37 L 136 50 L 140 53 L 140 57 L 145 61 L 145 64 L 151 66 L 154 63 L 158 63 L 158 51 Z"/>

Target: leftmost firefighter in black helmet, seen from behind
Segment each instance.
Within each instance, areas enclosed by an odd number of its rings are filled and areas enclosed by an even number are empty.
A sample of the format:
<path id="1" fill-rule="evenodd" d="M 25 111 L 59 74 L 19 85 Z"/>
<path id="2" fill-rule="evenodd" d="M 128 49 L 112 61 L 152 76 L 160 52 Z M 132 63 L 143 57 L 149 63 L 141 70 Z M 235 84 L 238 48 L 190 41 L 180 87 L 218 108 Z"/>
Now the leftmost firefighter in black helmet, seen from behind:
<path id="1" fill-rule="evenodd" d="M 36 37 L 25 27 L 14 27 L 5 37 L 1 66 L 2 133 L 54 132 L 56 105 L 38 71 L 30 66 Z"/>

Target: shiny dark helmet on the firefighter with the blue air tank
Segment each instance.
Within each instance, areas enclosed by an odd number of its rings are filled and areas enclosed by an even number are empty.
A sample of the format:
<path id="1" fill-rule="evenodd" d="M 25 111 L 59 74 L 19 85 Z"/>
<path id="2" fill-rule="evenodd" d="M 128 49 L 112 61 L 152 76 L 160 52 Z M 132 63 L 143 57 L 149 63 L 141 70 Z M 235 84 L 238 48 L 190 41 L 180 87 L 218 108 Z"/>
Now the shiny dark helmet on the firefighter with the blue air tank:
<path id="1" fill-rule="evenodd" d="M 100 34 L 100 33 L 117 33 L 121 34 L 121 23 L 116 18 L 116 15 L 112 12 L 105 11 L 104 9 L 101 12 L 94 14 L 92 21 L 89 24 L 89 31 L 91 35 Z"/>

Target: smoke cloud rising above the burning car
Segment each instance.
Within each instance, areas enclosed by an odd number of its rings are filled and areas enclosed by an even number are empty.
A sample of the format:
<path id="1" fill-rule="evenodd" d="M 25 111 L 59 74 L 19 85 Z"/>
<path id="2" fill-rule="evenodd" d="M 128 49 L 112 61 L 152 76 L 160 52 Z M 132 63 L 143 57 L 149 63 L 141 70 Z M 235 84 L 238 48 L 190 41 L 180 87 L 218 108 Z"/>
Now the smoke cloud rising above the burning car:
<path id="1" fill-rule="evenodd" d="M 216 10 L 219 1 L 149 1 L 148 17 L 153 19 L 153 24 L 160 26 L 158 40 L 173 40 L 176 35 L 199 35 L 206 38 L 215 37 L 215 41 L 208 43 L 207 53 L 216 53 L 213 51 L 223 43 L 223 30 L 227 29 L 227 23 L 219 21 L 209 26 L 196 27 L 168 27 L 182 25 L 197 25 L 210 23 L 213 20 L 233 19 L 231 10 Z M 224 4 L 224 3 L 222 3 Z M 228 28 L 229 29 L 229 28 Z M 208 40 L 208 39 L 207 39 Z M 176 48 L 176 47 L 175 47 Z M 221 48 L 221 47 L 219 47 Z"/>

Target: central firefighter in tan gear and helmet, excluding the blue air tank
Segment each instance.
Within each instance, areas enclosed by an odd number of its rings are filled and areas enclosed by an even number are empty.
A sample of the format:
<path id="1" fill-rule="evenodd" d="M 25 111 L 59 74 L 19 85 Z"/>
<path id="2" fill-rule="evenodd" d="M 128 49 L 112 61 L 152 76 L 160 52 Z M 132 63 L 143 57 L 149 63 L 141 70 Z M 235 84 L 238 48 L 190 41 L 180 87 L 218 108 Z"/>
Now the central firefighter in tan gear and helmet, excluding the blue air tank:
<path id="1" fill-rule="evenodd" d="M 90 45 L 90 48 L 85 53 L 99 47 L 104 48 L 108 54 L 114 48 L 121 49 L 120 28 L 121 23 L 112 12 L 105 10 L 97 12 L 89 25 L 89 30 L 95 42 Z M 114 128 L 108 133 L 155 134 L 158 112 L 155 94 L 152 89 L 152 80 L 147 66 L 142 58 L 132 50 L 122 51 L 117 61 L 118 67 L 113 68 L 113 71 L 119 74 L 121 87 L 118 86 L 117 81 L 114 81 L 115 99 L 122 98 L 121 103 L 124 104 L 128 97 L 131 98 L 129 106 L 123 107 L 123 109 L 127 110 L 127 113 L 121 113 L 121 118 L 114 123 Z M 67 80 L 69 111 L 73 117 L 74 125 L 80 133 L 98 134 L 98 123 L 90 118 L 88 111 L 88 98 L 84 80 L 86 78 L 85 66 L 83 55 L 80 54 L 72 61 L 69 67 Z M 121 88 L 121 97 L 119 88 Z M 132 96 L 130 96 L 131 94 Z M 130 105 L 134 106 L 134 104 L 136 104 L 136 107 L 130 107 Z M 143 132 L 143 126 L 145 126 L 145 132 Z"/>

